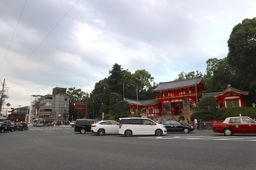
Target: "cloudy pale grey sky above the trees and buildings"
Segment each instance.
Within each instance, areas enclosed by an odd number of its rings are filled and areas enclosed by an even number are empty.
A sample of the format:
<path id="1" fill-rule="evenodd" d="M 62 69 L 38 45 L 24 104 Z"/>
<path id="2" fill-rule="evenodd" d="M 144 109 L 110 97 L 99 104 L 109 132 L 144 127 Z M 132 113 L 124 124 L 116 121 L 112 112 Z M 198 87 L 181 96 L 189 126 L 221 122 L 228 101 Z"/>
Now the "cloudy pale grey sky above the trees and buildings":
<path id="1" fill-rule="evenodd" d="M 54 87 L 90 93 L 114 63 L 157 83 L 205 72 L 207 59 L 226 57 L 233 27 L 253 17 L 255 0 L 1 0 L 3 107 L 29 106 Z"/>

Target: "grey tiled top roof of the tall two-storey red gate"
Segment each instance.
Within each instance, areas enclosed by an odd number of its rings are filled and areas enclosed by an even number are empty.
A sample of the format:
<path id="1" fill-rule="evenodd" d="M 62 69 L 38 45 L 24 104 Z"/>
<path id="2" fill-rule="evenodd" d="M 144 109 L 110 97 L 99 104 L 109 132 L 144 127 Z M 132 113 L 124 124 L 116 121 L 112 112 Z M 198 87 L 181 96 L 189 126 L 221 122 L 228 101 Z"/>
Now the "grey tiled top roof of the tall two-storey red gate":
<path id="1" fill-rule="evenodd" d="M 182 88 L 182 87 L 190 87 L 190 86 L 195 86 L 195 83 L 197 85 L 203 84 L 204 90 L 207 89 L 206 86 L 204 85 L 203 78 L 201 76 L 198 76 L 198 77 L 193 77 L 189 79 L 159 83 L 157 88 L 153 89 L 152 91 L 163 91 L 163 90 L 171 90 L 171 89 Z"/>

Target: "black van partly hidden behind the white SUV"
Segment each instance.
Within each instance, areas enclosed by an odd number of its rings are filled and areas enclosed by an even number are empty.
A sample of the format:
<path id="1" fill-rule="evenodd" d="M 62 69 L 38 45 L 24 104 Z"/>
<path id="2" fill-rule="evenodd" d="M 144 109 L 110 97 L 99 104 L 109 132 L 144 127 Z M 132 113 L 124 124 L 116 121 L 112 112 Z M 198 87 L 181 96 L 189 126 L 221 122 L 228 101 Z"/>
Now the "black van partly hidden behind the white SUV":
<path id="1" fill-rule="evenodd" d="M 91 131 L 91 124 L 99 122 L 97 119 L 76 119 L 75 132 L 86 133 Z"/>

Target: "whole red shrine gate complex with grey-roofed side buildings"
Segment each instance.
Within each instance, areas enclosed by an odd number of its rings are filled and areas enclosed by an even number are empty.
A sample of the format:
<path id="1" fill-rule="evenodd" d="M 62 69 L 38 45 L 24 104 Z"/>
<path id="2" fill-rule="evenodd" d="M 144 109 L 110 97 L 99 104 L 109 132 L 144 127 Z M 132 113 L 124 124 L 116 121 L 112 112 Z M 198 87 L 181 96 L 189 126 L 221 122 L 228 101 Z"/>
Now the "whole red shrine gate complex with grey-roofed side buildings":
<path id="1" fill-rule="evenodd" d="M 135 114 L 140 112 L 147 113 L 147 116 L 164 116 L 164 115 L 184 115 L 183 100 L 189 99 L 192 106 L 196 106 L 200 100 L 208 96 L 214 96 L 218 107 L 245 107 L 247 100 L 251 99 L 248 91 L 241 91 L 228 87 L 223 92 L 204 93 L 207 90 L 201 76 L 189 79 L 176 80 L 172 82 L 159 83 L 153 92 L 161 92 L 161 96 L 150 100 L 133 100 L 125 98 L 130 106 L 131 111 Z M 223 95 L 224 94 L 224 95 Z"/>

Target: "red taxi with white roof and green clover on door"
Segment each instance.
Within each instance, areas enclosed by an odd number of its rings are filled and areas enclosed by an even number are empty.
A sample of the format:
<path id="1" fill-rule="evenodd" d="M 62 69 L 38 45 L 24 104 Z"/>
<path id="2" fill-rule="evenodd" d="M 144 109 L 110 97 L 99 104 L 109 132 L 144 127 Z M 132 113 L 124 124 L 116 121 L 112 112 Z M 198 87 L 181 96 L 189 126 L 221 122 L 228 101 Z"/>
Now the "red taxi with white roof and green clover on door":
<path id="1" fill-rule="evenodd" d="M 256 133 L 256 121 L 247 116 L 226 118 L 223 123 L 212 124 L 212 130 L 230 136 L 234 133 Z"/>

